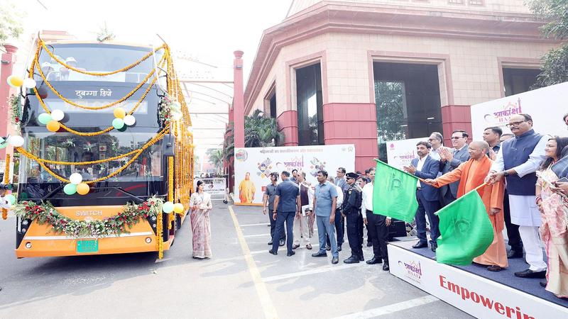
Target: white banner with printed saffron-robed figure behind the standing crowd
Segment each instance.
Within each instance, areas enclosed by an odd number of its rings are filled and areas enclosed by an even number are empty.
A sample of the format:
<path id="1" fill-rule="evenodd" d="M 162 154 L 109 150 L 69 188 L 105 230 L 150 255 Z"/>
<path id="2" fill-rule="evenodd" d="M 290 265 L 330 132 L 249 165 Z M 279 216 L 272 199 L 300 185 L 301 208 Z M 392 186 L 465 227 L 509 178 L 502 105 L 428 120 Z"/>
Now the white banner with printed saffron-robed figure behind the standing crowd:
<path id="1" fill-rule="evenodd" d="M 236 203 L 256 205 L 262 203 L 271 172 L 306 173 L 306 180 L 317 184 L 317 171 L 324 169 L 335 177 L 338 167 L 347 172 L 355 169 L 355 145 L 310 145 L 284 147 L 236 147 L 235 148 Z M 280 178 L 278 178 L 280 181 Z"/>

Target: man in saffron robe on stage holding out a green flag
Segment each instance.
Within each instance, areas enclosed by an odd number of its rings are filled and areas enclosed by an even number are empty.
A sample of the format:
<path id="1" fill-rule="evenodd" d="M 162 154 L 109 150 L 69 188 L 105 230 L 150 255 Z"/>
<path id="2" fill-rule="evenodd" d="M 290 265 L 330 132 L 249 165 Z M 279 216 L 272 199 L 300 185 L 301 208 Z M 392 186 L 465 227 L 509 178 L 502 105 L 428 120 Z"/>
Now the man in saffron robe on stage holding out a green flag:
<path id="1" fill-rule="evenodd" d="M 463 196 L 477 186 L 484 184 L 484 179 L 493 163 L 491 159 L 485 156 L 488 150 L 490 148 L 485 141 L 471 142 L 468 148 L 470 159 L 467 162 L 461 163 L 452 172 L 447 172 L 437 179 L 426 179 L 426 182 L 432 186 L 441 187 L 459 181 L 457 198 Z M 478 189 L 477 192 L 484 201 L 489 220 L 493 225 L 493 242 L 484 254 L 474 259 L 474 262 L 487 265 L 487 270 L 491 272 L 498 272 L 508 266 L 505 240 L 503 240 L 503 233 L 501 233 L 505 223 L 503 217 L 503 182 L 499 181 L 494 185 L 488 184 Z"/>

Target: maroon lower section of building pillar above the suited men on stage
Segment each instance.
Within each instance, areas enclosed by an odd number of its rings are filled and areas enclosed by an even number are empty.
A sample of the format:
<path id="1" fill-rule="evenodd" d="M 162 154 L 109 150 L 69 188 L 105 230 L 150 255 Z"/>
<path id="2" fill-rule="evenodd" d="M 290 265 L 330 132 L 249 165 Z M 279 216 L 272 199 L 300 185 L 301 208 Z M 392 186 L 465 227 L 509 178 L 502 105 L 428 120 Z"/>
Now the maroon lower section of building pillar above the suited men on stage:
<path id="1" fill-rule="evenodd" d="M 482 136 L 471 135 L 471 112 L 469 105 L 442 106 L 442 128 L 444 145 L 452 147 L 451 137 L 454 130 L 465 130 L 469 134 L 468 142 L 481 140 Z"/>

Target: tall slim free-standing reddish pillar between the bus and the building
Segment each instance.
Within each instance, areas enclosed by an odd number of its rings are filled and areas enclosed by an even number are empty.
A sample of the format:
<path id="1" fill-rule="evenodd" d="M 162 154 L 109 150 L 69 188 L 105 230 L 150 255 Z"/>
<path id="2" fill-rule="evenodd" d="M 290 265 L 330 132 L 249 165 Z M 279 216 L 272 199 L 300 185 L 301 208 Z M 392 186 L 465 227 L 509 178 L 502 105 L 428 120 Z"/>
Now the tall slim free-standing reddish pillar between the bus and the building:
<path id="1" fill-rule="evenodd" d="M 243 51 L 233 52 L 234 59 L 234 94 L 233 116 L 235 147 L 244 147 L 244 89 L 243 89 Z"/>

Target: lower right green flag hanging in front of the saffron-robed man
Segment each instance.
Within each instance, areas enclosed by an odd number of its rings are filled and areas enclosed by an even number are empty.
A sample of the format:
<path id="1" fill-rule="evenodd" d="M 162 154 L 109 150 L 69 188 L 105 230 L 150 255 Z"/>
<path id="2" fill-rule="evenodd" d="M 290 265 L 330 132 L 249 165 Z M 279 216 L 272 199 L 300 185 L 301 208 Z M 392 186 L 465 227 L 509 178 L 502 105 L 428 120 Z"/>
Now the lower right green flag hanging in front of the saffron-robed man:
<path id="1" fill-rule="evenodd" d="M 441 264 L 471 264 L 493 242 L 493 225 L 475 189 L 437 211 L 436 215 L 440 233 L 436 260 Z"/>

